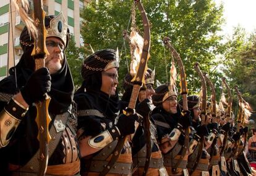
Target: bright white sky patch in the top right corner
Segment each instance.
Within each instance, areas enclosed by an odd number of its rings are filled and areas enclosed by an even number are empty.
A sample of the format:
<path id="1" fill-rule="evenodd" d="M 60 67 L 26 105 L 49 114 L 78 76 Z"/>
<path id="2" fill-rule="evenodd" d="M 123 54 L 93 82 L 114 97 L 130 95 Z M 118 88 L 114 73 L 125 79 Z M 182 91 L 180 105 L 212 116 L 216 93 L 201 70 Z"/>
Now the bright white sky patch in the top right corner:
<path id="1" fill-rule="evenodd" d="M 223 2 L 224 19 L 223 34 L 232 35 L 233 27 L 240 25 L 247 33 L 256 31 L 256 0 L 215 0 Z"/>

